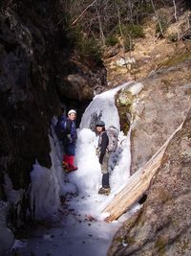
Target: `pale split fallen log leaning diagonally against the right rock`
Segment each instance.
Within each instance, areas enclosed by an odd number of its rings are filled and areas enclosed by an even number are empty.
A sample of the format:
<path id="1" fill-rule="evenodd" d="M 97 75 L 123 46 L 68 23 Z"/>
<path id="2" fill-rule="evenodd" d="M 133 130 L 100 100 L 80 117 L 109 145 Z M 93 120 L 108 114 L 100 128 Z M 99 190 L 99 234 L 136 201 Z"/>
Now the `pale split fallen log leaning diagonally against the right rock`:
<path id="1" fill-rule="evenodd" d="M 109 215 L 105 221 L 111 222 L 117 220 L 118 217 L 126 212 L 136 201 L 138 201 L 138 198 L 148 190 L 151 181 L 159 169 L 166 147 L 181 127 L 182 124 L 163 144 L 159 151 L 157 151 L 143 166 L 143 168 L 140 168 L 137 173 L 129 178 L 127 185 L 117 194 L 107 207 L 103 209 L 102 214 Z"/>

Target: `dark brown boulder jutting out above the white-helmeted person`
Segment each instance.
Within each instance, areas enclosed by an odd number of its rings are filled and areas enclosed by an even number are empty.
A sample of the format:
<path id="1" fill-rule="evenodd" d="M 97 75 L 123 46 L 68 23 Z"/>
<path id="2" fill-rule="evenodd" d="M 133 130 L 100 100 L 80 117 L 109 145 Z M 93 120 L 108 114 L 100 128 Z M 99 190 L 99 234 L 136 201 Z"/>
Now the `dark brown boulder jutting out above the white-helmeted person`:
<path id="1" fill-rule="evenodd" d="M 91 101 L 95 93 L 101 92 L 107 84 L 106 69 L 103 66 L 89 67 L 74 58 L 69 60 L 67 74 L 61 70 L 59 72 L 57 84 L 60 95 L 79 103 Z"/>

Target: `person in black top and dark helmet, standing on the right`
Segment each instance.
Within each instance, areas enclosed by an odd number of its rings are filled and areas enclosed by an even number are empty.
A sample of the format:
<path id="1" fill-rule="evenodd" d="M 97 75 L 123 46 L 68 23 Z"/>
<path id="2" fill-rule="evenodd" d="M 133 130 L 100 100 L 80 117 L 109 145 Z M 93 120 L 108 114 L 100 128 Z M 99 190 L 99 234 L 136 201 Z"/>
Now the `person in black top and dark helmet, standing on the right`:
<path id="1" fill-rule="evenodd" d="M 98 121 L 96 123 L 96 132 L 99 135 L 98 139 L 98 161 L 101 166 L 102 173 L 102 187 L 99 189 L 98 194 L 109 195 L 110 194 L 110 183 L 109 183 L 109 172 L 108 172 L 108 162 L 109 162 L 109 152 L 107 151 L 107 146 L 109 143 L 109 138 L 105 130 L 105 123 L 103 121 Z"/>

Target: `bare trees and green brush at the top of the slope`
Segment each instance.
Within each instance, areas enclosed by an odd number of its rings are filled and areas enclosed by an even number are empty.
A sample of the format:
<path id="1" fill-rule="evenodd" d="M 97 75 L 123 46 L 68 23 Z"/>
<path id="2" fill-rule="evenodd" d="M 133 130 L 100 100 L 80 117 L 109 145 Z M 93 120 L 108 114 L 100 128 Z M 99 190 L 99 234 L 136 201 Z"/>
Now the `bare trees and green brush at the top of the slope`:
<path id="1" fill-rule="evenodd" d="M 68 35 L 76 42 L 83 55 L 101 54 L 105 45 L 123 41 L 126 51 L 133 49 L 135 37 L 142 37 L 144 18 L 157 15 L 159 34 L 163 36 L 158 9 L 171 6 L 178 18 L 176 0 L 61 0 Z M 180 1 L 181 2 L 181 1 Z M 182 0 L 183 2 L 183 0 Z M 81 47 L 83 49 L 81 49 Z M 97 51 L 99 49 L 99 51 Z M 98 56 L 99 56 L 98 54 Z"/>

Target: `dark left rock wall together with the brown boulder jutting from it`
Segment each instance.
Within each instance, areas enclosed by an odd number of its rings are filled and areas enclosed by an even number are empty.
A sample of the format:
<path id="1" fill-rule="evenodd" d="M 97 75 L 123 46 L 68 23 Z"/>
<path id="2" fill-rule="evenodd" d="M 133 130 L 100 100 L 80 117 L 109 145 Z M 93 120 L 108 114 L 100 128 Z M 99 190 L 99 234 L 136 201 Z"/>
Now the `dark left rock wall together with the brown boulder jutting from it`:
<path id="1" fill-rule="evenodd" d="M 75 60 L 60 24 L 60 1 L 1 1 L 0 10 L 0 200 L 8 199 L 8 175 L 15 193 L 23 192 L 11 216 L 17 227 L 29 210 L 32 165 L 52 165 L 49 133 L 60 98 L 68 107 L 69 100 L 82 107 L 94 86 L 106 85 L 106 73 L 103 66 Z"/>

